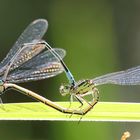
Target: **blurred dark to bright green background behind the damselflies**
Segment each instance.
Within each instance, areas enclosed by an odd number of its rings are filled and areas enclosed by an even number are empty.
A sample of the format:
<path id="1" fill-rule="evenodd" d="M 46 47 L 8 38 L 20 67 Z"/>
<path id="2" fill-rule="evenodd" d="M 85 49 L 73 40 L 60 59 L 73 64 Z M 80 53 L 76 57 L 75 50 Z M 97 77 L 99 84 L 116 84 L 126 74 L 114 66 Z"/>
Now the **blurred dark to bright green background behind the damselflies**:
<path id="1" fill-rule="evenodd" d="M 140 64 L 140 1 L 138 0 L 0 0 L 0 59 L 33 20 L 45 18 L 44 39 L 67 51 L 65 62 L 77 80 L 127 69 Z M 68 100 L 59 94 L 65 74 L 20 84 L 53 101 Z M 104 85 L 100 101 L 139 102 L 140 87 Z M 8 91 L 3 102 L 32 99 Z M 115 108 L 114 108 L 115 109 Z M 2 140 L 119 140 L 129 130 L 140 138 L 139 123 L 0 121 Z"/>

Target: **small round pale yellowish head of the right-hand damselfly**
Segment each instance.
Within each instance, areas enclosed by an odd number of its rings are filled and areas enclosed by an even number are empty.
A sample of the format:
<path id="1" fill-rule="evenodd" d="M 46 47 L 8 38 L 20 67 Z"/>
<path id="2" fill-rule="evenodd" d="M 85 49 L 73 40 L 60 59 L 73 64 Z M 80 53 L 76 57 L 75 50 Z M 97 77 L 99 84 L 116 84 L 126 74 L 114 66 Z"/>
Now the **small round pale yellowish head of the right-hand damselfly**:
<path id="1" fill-rule="evenodd" d="M 59 92 L 62 96 L 66 96 L 68 94 L 70 94 L 70 85 L 61 85 L 59 88 Z"/>

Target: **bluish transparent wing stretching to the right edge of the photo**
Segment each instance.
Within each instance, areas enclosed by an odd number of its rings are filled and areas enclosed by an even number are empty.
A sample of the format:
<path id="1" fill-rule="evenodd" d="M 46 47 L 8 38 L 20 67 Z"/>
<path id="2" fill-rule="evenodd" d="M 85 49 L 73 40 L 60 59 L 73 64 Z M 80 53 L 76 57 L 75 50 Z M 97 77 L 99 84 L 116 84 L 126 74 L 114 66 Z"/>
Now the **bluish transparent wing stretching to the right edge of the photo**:
<path id="1" fill-rule="evenodd" d="M 92 79 L 95 85 L 140 85 L 140 66 L 125 71 L 114 72 Z"/>

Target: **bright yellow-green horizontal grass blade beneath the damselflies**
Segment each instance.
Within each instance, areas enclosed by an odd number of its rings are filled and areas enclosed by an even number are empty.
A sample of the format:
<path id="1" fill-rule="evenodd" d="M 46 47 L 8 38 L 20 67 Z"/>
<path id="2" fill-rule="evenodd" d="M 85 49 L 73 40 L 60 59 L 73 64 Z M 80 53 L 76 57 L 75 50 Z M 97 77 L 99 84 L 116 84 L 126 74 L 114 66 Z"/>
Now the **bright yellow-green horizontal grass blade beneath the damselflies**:
<path id="1" fill-rule="evenodd" d="M 69 102 L 56 102 L 64 107 Z M 74 102 L 72 107 L 78 107 Z M 42 103 L 10 103 L 0 107 L 0 120 L 79 121 L 81 116 L 56 111 Z M 140 103 L 99 102 L 81 121 L 140 122 Z"/>

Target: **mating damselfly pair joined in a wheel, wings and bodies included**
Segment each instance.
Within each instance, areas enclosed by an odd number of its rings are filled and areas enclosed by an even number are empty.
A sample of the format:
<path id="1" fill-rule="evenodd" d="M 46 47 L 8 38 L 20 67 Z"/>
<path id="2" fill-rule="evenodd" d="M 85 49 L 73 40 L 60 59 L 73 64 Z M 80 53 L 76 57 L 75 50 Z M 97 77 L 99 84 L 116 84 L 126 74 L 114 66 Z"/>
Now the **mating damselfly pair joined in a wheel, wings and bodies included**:
<path id="1" fill-rule="evenodd" d="M 52 49 L 42 39 L 47 28 L 48 22 L 45 19 L 33 21 L 0 63 L 1 93 L 12 88 L 63 113 L 84 115 L 98 102 L 99 92 L 96 86 L 101 84 L 140 84 L 140 66 L 106 74 L 91 80 L 87 79 L 76 82 L 63 61 L 66 54 L 65 50 L 59 48 Z M 66 73 L 69 84 L 62 85 L 60 87 L 60 93 L 63 96 L 68 94 L 70 101 L 74 98 L 81 103 L 81 106 L 83 102 L 87 103 L 87 107 L 82 109 L 64 108 L 37 93 L 15 84 L 53 77 L 63 71 Z M 92 99 L 86 101 L 84 97 L 90 94 L 92 95 Z"/>

